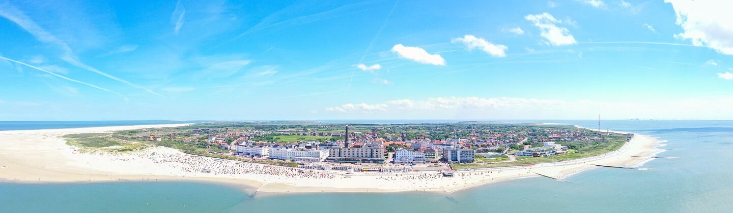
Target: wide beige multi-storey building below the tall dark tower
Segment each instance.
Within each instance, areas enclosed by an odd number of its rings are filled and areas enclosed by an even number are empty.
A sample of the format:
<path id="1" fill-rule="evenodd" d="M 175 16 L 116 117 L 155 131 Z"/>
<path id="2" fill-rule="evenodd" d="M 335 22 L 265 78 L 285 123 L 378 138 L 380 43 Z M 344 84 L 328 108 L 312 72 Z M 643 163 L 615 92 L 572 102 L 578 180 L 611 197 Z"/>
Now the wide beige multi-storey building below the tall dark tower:
<path id="1" fill-rule="evenodd" d="M 384 149 L 375 144 L 365 144 L 361 147 L 331 147 L 326 160 L 338 163 L 384 163 Z"/>

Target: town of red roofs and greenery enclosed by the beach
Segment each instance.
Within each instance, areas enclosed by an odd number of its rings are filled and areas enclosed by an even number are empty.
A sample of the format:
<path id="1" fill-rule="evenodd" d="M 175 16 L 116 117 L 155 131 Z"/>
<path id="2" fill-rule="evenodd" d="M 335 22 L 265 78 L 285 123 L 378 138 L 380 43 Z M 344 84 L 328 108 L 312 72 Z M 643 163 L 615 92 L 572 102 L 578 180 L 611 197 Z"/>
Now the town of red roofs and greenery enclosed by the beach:
<path id="1" fill-rule="evenodd" d="M 565 125 L 512 123 L 201 123 L 125 131 L 117 139 L 125 135 L 194 155 L 348 172 L 526 166 L 600 155 L 630 139 Z"/>

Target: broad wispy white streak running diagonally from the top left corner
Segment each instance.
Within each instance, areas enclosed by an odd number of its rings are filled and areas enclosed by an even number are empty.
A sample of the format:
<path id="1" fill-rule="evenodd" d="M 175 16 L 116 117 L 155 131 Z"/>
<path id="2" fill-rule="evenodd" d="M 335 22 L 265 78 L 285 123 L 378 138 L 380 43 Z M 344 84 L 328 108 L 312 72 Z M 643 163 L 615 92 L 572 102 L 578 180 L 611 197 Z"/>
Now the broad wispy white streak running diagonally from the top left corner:
<path id="1" fill-rule="evenodd" d="M 56 47 L 59 47 L 62 50 L 61 59 L 71 63 L 74 66 L 77 66 L 81 69 L 86 69 L 88 71 L 95 72 L 97 74 L 101 74 L 104 77 L 108 77 L 112 80 L 116 80 L 118 82 L 125 83 L 126 85 L 130 85 L 134 88 L 139 88 L 142 90 L 147 91 L 148 93 L 151 93 L 153 95 L 162 96 L 161 94 L 155 93 L 152 90 L 148 88 L 141 87 L 139 85 L 133 84 L 132 82 L 128 82 L 126 80 L 122 80 L 118 77 L 114 77 L 111 74 L 107 74 L 103 71 L 100 71 L 98 69 L 95 69 L 92 66 L 86 65 L 86 63 L 83 63 L 79 60 L 78 56 L 76 56 L 73 53 L 73 50 L 71 50 L 71 47 L 69 45 L 62 41 L 61 39 L 57 38 L 56 36 L 48 33 L 44 28 L 39 26 L 37 23 L 35 23 L 33 20 L 28 18 L 23 12 L 17 8 L 15 8 L 10 3 L 7 3 L 7 1 L 0 1 L 0 16 L 7 18 L 8 20 L 11 20 L 13 23 L 18 24 L 18 26 L 21 26 L 24 30 L 28 31 L 30 34 L 32 34 L 36 39 L 38 39 L 40 42 L 45 42 L 48 44 L 54 44 Z"/>

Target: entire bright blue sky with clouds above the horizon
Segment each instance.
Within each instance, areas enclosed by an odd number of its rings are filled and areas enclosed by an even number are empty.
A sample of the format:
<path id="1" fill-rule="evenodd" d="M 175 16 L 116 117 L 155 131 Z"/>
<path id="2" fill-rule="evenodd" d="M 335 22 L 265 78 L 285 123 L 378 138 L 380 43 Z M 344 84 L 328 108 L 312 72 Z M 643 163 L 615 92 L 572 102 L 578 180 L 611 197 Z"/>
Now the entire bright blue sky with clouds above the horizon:
<path id="1" fill-rule="evenodd" d="M 726 4 L 0 0 L 0 120 L 733 119 Z"/>

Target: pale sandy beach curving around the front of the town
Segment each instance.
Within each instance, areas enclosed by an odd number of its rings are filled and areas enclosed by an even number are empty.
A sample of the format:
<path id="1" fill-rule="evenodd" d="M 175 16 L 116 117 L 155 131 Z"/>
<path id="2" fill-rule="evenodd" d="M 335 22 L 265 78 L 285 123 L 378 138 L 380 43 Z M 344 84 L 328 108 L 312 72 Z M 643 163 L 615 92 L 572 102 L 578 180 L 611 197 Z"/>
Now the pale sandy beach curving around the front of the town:
<path id="1" fill-rule="evenodd" d="M 6 182 L 93 182 L 117 180 L 194 180 L 226 182 L 256 187 L 261 192 L 395 192 L 457 190 L 507 179 L 559 178 L 603 166 L 635 167 L 662 152 L 660 142 L 635 134 L 621 149 L 594 158 L 559 163 L 541 163 L 512 168 L 457 171 L 455 177 L 441 177 L 436 171 L 410 173 L 357 173 L 317 171 L 187 155 L 166 147 L 139 152 L 78 153 L 61 136 L 69 133 L 101 133 L 174 125 L 132 125 L 95 128 L 67 128 L 29 131 L 0 131 L 0 179 Z M 203 173 L 201 169 L 210 169 Z"/>

